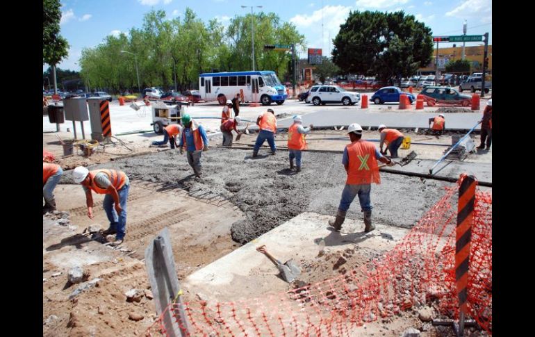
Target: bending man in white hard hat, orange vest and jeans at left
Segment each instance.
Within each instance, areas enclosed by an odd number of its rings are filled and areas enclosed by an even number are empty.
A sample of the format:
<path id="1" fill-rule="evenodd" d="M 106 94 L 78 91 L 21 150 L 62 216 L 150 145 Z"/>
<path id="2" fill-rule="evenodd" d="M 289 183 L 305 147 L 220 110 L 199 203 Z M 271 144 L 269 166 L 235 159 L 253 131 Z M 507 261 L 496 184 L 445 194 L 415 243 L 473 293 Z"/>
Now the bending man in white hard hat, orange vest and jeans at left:
<path id="1" fill-rule="evenodd" d="M 115 242 L 112 245 L 122 244 L 126 234 L 126 199 L 130 188 L 130 179 L 122 171 L 117 170 L 94 170 L 89 171 L 83 166 L 78 166 L 72 172 L 75 183 L 81 183 L 85 191 L 85 202 L 88 205 L 88 217 L 92 220 L 93 195 L 91 191 L 104 197 L 104 211 L 110 221 L 110 227 L 102 234 L 107 236 L 115 234 Z"/>

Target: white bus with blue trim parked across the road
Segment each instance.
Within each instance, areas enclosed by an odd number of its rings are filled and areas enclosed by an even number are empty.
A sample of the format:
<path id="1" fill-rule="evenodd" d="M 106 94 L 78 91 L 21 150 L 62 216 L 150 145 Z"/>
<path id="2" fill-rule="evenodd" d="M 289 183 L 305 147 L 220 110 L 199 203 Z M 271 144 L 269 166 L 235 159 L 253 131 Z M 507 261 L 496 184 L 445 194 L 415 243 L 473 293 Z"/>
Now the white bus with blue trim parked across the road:
<path id="1" fill-rule="evenodd" d="M 272 71 L 265 72 L 214 72 L 199 75 L 199 93 L 205 101 L 219 101 L 224 105 L 227 99 L 243 92 L 243 100 L 262 103 L 265 106 L 275 102 L 279 105 L 288 97 L 286 88 Z"/>

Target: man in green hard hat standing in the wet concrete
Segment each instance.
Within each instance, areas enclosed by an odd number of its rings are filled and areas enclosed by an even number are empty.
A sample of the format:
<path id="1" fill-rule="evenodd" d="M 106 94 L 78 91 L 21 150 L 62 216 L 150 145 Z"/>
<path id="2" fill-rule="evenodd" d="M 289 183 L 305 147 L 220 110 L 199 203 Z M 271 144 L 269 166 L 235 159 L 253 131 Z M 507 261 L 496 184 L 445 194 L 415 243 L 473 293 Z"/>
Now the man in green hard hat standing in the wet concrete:
<path id="1" fill-rule="evenodd" d="M 188 163 L 192 167 L 195 176 L 200 178 L 202 174 L 202 151 L 208 150 L 208 137 L 206 137 L 206 131 L 204 131 L 202 125 L 197 124 L 197 122 L 192 120 L 188 114 L 182 116 L 182 125 L 184 126 L 184 129 L 182 131 L 182 137 L 180 138 L 180 154 L 183 154 L 183 148 L 186 146 Z"/>

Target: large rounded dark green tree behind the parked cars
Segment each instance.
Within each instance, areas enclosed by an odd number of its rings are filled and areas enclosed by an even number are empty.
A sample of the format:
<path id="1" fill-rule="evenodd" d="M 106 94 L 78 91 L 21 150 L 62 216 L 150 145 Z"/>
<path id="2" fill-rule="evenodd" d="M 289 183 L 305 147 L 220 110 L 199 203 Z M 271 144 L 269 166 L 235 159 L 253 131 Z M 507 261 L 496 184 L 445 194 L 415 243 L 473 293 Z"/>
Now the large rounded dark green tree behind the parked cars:
<path id="1" fill-rule="evenodd" d="M 350 12 L 333 40 L 333 61 L 343 72 L 378 76 L 411 76 L 431 60 L 431 28 L 403 11 Z"/>

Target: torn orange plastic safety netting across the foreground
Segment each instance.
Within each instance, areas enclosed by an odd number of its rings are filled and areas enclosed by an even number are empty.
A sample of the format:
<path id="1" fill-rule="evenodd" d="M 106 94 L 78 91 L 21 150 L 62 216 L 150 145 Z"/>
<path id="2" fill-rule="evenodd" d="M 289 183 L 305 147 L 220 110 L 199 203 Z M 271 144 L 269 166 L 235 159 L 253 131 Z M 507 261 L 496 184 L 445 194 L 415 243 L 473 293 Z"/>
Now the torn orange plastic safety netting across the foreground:
<path id="1" fill-rule="evenodd" d="M 237 302 L 186 302 L 188 336 L 349 336 L 365 322 L 426 304 L 459 318 L 455 287 L 457 188 L 438 201 L 394 249 L 367 265 L 297 288 Z M 178 312 L 180 304 L 167 310 Z M 492 195 L 476 192 L 468 318 L 492 334 Z M 174 319 L 178 320 L 178 313 Z M 183 323 L 179 322 L 181 327 Z M 165 335 L 163 315 L 147 336 Z"/>

